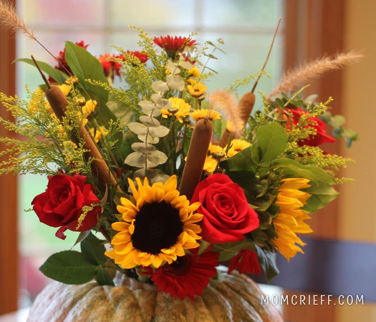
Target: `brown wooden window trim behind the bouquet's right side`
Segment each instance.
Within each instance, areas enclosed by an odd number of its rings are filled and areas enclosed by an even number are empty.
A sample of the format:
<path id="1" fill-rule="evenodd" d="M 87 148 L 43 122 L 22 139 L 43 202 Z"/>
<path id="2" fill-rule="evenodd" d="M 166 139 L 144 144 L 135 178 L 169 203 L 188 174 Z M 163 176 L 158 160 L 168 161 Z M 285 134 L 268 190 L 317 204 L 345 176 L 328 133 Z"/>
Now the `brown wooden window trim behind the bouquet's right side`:
<path id="1" fill-rule="evenodd" d="M 336 54 L 343 51 L 344 1 L 343 0 L 287 0 L 286 1 L 286 44 L 285 68 L 307 62 L 323 54 Z M 292 22 L 291 22 L 292 21 Z M 291 39 L 295 37 L 295 39 Z M 288 48 L 288 47 L 291 48 Z M 293 53 L 292 51 L 296 52 Z M 341 112 L 342 72 L 334 71 L 311 83 L 305 95 L 318 94 L 320 101 L 329 96 L 335 100 L 330 104 L 331 112 Z M 324 144 L 323 150 L 340 154 L 340 143 Z M 338 236 L 338 201 L 332 201 L 323 210 L 315 213 L 309 222 L 312 236 L 336 239 Z M 312 261 L 315 260 L 312 258 Z M 325 274 L 325 272 L 323 272 Z M 285 291 L 285 295 L 302 292 Z M 333 305 L 285 305 L 284 318 L 289 321 L 336 321 Z"/>

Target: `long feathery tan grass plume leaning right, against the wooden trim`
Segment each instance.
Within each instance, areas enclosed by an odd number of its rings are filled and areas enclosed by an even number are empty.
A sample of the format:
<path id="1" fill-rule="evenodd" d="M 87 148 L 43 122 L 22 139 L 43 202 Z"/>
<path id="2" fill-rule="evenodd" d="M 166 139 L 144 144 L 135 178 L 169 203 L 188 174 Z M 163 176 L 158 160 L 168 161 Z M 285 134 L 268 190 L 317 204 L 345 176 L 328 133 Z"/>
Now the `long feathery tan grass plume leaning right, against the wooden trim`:
<path id="1" fill-rule="evenodd" d="M 301 67 L 296 67 L 284 74 L 279 85 L 269 95 L 269 98 L 279 95 L 280 92 L 293 91 L 302 83 L 309 83 L 312 79 L 320 77 L 330 70 L 340 69 L 345 65 L 357 62 L 362 57 L 362 54 L 350 51 L 349 53 L 337 54 L 335 57 L 321 57 Z"/>

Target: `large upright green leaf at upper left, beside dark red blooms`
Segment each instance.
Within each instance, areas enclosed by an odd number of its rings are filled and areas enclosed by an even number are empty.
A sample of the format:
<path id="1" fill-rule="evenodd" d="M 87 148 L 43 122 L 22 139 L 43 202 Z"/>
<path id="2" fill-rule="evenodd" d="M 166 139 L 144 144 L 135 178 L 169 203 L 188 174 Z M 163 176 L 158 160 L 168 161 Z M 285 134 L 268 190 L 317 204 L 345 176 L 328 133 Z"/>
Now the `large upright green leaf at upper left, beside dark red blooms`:
<path id="1" fill-rule="evenodd" d="M 85 81 L 85 79 L 90 79 L 108 84 L 99 60 L 84 48 L 70 41 L 65 42 L 65 60 L 73 74 L 79 79 L 83 88 L 90 92 L 89 94 L 96 94 L 106 103 L 108 100 L 108 91 L 102 86 L 89 84 Z"/>

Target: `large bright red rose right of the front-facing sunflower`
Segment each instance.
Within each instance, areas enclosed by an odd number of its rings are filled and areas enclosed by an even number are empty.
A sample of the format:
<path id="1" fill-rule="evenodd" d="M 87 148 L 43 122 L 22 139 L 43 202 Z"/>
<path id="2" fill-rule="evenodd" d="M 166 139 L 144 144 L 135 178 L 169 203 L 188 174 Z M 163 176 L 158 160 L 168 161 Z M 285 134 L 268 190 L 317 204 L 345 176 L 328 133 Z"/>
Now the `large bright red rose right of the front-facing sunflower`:
<path id="1" fill-rule="evenodd" d="M 212 244 L 237 242 L 259 225 L 257 213 L 249 206 L 243 189 L 224 174 L 201 181 L 191 202 L 200 201 L 198 213 L 202 238 Z"/>

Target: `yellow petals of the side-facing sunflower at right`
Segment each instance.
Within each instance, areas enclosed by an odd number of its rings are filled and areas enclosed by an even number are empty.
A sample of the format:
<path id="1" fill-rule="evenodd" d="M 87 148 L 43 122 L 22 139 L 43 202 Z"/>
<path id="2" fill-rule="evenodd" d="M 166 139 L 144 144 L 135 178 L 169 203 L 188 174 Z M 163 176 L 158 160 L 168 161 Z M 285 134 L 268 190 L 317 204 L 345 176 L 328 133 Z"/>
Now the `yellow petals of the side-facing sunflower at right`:
<path id="1" fill-rule="evenodd" d="M 295 245 L 295 243 L 300 246 L 305 245 L 296 236 L 296 233 L 312 232 L 309 225 L 303 222 L 304 219 L 310 219 L 311 217 L 307 215 L 308 212 L 301 209 L 311 195 L 299 190 L 310 187 L 308 179 L 287 178 L 283 181 L 284 183 L 278 189 L 279 193 L 276 201 L 276 204 L 280 206 L 280 212 L 273 219 L 277 233 L 277 237 L 273 239 L 273 242 L 278 251 L 289 261 L 290 257 L 294 257 L 297 252 L 304 254 L 302 249 Z"/>

